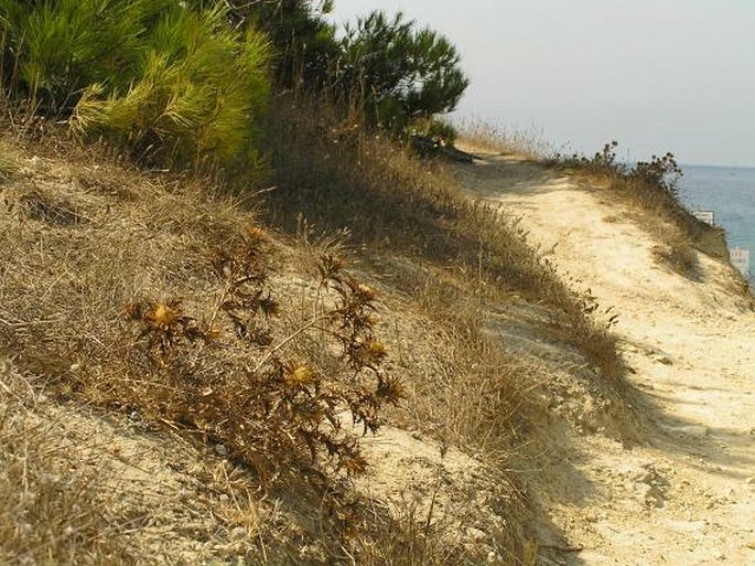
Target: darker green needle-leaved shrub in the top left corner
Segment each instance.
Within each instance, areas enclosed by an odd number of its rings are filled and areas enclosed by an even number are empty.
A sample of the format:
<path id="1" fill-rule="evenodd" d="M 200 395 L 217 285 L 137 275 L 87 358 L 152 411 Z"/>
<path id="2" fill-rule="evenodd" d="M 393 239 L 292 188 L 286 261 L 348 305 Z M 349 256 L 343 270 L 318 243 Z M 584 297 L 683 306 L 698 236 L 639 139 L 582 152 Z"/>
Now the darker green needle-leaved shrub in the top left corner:
<path id="1" fill-rule="evenodd" d="M 4 87 L 47 114 L 94 82 L 128 86 L 145 28 L 170 0 L 0 0 Z"/>

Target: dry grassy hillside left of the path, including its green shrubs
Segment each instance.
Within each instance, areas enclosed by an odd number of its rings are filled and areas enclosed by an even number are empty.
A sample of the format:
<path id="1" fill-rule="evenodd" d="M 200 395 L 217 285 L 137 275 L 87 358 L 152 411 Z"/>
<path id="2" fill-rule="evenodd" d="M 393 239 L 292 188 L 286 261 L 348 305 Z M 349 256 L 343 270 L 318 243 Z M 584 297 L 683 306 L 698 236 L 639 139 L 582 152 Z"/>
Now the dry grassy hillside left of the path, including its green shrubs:
<path id="1" fill-rule="evenodd" d="M 0 559 L 528 564 L 543 430 L 636 440 L 612 313 L 199 4 L 0 2 Z"/>

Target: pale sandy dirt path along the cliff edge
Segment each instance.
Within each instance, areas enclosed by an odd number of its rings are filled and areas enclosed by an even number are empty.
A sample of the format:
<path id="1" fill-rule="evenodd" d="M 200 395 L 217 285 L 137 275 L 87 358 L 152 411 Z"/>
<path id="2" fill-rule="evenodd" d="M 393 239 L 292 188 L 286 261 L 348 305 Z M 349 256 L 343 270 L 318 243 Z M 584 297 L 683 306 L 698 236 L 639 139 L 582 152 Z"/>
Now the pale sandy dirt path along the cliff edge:
<path id="1" fill-rule="evenodd" d="M 641 446 L 579 437 L 565 455 L 576 473 L 554 453 L 533 478 L 563 535 L 543 534 L 541 563 L 755 564 L 755 313 L 731 267 L 699 254 L 697 280 L 672 273 L 623 206 L 537 164 L 483 156 L 459 175 L 619 314 L 643 398 Z"/>

